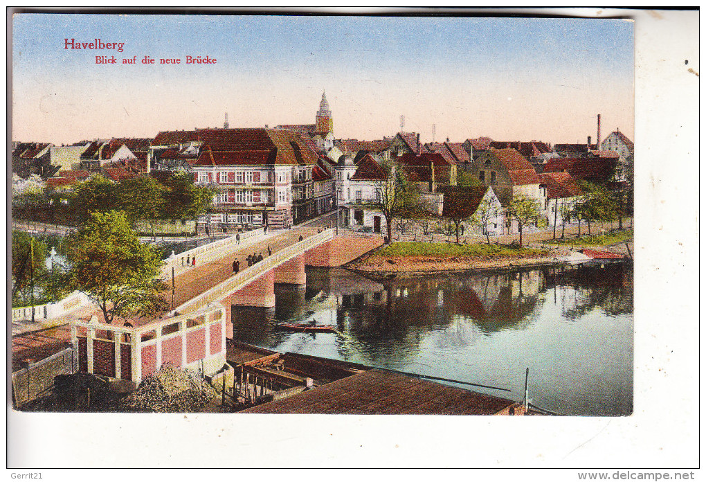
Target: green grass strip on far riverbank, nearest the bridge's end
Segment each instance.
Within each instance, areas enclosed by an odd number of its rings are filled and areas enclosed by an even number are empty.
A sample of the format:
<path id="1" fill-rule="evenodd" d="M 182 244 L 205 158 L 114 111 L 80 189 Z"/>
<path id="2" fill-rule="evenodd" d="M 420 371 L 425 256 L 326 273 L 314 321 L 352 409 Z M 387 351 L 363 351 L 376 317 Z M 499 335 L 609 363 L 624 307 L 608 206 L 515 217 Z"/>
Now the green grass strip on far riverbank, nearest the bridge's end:
<path id="1" fill-rule="evenodd" d="M 390 257 L 542 257 L 546 249 L 528 249 L 496 245 L 455 245 L 436 242 L 393 242 L 378 249 L 371 255 L 371 261 L 376 258 Z"/>

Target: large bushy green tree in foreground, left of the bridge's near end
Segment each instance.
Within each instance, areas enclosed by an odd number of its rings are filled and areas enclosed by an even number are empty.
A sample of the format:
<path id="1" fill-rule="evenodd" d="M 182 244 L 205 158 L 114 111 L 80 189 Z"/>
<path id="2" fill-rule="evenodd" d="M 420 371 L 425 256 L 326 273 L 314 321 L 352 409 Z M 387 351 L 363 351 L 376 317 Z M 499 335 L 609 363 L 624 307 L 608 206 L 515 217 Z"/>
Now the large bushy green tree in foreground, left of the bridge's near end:
<path id="1" fill-rule="evenodd" d="M 114 317 L 156 315 L 167 309 L 156 278 L 162 261 L 144 245 L 121 211 L 94 212 L 85 227 L 71 235 L 74 286 L 100 308 L 105 322 Z"/>

